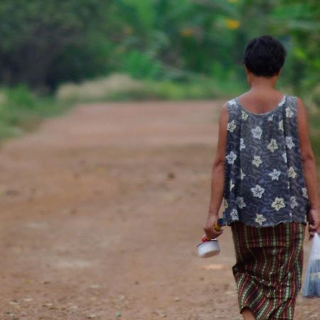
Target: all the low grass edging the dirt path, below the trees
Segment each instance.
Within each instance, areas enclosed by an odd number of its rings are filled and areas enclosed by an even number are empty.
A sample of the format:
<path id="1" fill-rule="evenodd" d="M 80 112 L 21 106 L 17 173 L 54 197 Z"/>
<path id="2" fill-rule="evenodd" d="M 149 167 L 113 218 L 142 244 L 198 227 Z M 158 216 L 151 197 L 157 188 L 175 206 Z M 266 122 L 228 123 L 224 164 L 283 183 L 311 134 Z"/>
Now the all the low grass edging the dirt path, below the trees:
<path id="1" fill-rule="evenodd" d="M 26 87 L 0 90 L 0 141 L 18 137 L 36 127 L 46 117 L 65 112 L 77 103 L 130 100 L 205 100 L 230 98 L 247 90 L 235 81 L 221 82 L 198 76 L 189 82 L 143 81 L 128 75 L 114 74 L 107 78 L 62 85 L 55 96 L 38 97 Z M 314 92 L 309 106 L 311 144 L 320 164 L 320 89 Z"/>

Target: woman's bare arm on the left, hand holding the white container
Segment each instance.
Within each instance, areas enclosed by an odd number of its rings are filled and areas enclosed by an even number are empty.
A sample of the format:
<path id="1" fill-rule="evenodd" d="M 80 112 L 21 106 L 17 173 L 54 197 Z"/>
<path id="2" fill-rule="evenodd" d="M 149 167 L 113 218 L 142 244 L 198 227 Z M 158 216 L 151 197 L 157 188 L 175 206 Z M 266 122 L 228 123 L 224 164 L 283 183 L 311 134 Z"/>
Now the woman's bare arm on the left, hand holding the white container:
<path id="1" fill-rule="evenodd" d="M 225 151 L 227 144 L 228 109 L 227 102 L 223 105 L 219 117 L 218 146 L 215 152 L 215 159 L 212 167 L 211 196 L 208 218 L 203 228 L 208 238 L 217 238 L 222 231 L 213 230 L 213 225 L 218 220 L 218 213 L 223 201 L 225 188 Z"/>

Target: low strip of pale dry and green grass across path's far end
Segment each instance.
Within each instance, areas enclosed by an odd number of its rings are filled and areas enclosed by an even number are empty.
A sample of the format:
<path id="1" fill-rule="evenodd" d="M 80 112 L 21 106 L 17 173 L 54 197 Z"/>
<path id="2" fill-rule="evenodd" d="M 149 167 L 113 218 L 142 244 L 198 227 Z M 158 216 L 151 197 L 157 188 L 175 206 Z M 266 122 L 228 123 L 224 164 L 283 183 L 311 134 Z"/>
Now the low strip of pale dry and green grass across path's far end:
<path id="1" fill-rule="evenodd" d="M 62 85 L 60 100 L 69 102 L 102 102 L 130 100 L 201 100 L 239 94 L 244 88 L 235 82 L 210 78 L 193 78 L 188 82 L 134 80 L 128 75 L 114 74 L 82 82 Z"/>

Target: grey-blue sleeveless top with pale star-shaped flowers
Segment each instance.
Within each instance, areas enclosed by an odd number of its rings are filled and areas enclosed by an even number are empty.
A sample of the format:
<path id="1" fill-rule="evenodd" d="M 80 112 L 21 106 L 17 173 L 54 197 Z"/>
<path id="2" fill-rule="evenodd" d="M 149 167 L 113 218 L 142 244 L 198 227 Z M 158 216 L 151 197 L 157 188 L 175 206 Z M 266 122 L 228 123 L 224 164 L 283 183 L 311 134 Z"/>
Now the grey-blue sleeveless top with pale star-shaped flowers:
<path id="1" fill-rule="evenodd" d="M 306 223 L 310 203 L 302 166 L 297 97 L 255 114 L 228 101 L 223 218 L 255 227 Z"/>

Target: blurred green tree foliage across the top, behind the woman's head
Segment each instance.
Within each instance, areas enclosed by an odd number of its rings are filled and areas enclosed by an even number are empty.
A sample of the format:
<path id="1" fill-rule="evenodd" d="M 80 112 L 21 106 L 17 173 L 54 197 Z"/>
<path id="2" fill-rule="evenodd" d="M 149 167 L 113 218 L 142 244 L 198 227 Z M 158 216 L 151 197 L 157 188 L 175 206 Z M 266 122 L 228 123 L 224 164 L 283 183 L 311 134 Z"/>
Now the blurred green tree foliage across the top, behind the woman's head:
<path id="1" fill-rule="evenodd" d="M 250 38 L 272 34 L 289 56 L 283 81 L 319 81 L 316 0 L 2 0 L 0 81 L 54 89 L 107 75 L 244 80 Z"/>

